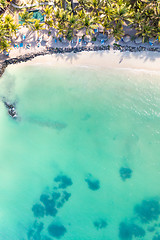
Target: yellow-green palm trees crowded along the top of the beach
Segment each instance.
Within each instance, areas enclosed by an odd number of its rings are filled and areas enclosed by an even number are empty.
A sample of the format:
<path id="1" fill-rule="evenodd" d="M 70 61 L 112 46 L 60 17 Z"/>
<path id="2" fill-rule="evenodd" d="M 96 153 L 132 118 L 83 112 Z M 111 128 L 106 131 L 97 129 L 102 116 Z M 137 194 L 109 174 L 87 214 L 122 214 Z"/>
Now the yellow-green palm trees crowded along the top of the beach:
<path id="1" fill-rule="evenodd" d="M 93 38 L 94 29 L 103 27 L 104 33 L 118 41 L 125 34 L 125 26 L 128 26 L 135 29 L 136 36 L 142 37 L 144 42 L 150 37 L 160 41 L 160 0 L 79 0 L 76 7 L 72 0 L 55 0 L 56 8 L 45 5 L 45 2 L 39 1 L 45 16 L 44 23 L 33 20 L 33 13 L 26 9 L 19 13 L 23 25 L 38 34 L 45 27 L 49 32 L 55 28 L 57 37 L 63 36 L 68 40 L 73 39 L 79 30 Z M 0 0 L 0 6 L 5 8 L 6 1 Z M 18 28 L 11 14 L 1 14 L 1 51 L 10 46 Z"/>

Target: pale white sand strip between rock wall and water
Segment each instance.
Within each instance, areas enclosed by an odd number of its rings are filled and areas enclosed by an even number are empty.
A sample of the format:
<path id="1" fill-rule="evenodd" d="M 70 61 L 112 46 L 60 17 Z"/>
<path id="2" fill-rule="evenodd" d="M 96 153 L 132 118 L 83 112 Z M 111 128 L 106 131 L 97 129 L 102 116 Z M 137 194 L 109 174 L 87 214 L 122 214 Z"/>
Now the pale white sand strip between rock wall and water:
<path id="1" fill-rule="evenodd" d="M 64 53 L 38 56 L 31 61 L 21 64 L 48 64 L 57 67 L 86 66 L 106 69 L 137 69 L 160 72 L 160 58 L 159 53 L 156 52 L 131 53 L 110 50 L 97 52 Z"/>

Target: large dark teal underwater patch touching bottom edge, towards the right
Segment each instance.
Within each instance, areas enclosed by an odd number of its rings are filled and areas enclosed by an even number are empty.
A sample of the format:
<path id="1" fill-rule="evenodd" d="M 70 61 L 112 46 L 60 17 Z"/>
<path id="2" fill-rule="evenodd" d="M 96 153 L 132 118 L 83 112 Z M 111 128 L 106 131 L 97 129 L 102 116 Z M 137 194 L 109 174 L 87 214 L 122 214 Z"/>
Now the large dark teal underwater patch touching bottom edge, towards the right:
<path id="1" fill-rule="evenodd" d="M 122 240 L 132 240 L 133 237 L 144 237 L 145 231 L 136 224 L 121 222 L 119 225 L 119 238 Z"/>

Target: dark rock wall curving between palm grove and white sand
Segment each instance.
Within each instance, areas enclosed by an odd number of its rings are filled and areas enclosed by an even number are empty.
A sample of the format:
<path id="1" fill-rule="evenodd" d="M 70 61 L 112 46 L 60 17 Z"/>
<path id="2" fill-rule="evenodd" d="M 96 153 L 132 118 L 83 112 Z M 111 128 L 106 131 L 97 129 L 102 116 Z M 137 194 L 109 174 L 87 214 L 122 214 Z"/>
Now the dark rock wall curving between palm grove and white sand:
<path id="1" fill-rule="evenodd" d="M 20 55 L 16 58 L 9 58 L 4 60 L 0 64 L 0 77 L 3 75 L 6 67 L 11 64 L 17 64 L 21 62 L 27 62 L 29 60 L 32 60 L 33 58 L 37 56 L 43 56 L 47 54 L 57 54 L 57 53 L 78 53 L 78 52 L 84 52 L 84 51 L 104 51 L 110 50 L 110 45 L 101 45 L 101 46 L 82 46 L 82 47 L 63 47 L 63 48 L 53 48 L 53 47 L 47 47 L 46 50 L 39 51 L 37 53 L 29 53 L 25 55 Z M 113 44 L 113 50 L 120 51 L 120 52 L 141 52 L 141 51 L 152 51 L 152 52 L 160 52 L 159 47 L 142 47 L 142 46 L 128 46 L 128 45 L 120 45 L 120 44 Z"/>

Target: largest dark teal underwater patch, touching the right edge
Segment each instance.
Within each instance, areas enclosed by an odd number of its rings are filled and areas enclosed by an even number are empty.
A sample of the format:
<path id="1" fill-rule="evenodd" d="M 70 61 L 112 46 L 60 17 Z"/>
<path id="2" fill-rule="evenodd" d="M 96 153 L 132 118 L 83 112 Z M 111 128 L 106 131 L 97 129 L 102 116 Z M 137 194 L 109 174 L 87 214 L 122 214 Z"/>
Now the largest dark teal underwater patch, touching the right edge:
<path id="1" fill-rule="evenodd" d="M 134 211 L 142 223 L 149 223 L 158 220 L 160 205 L 157 200 L 143 200 L 141 204 L 135 206 Z"/>

